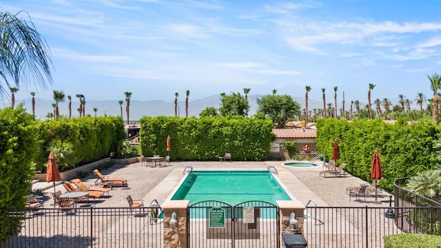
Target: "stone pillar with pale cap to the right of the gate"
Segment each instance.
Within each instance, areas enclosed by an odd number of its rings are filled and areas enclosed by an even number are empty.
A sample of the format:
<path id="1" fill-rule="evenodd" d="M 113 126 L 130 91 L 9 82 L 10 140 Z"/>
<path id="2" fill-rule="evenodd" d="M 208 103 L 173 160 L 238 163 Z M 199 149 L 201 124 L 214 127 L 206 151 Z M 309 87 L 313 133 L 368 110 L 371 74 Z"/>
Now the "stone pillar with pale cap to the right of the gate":
<path id="1" fill-rule="evenodd" d="M 300 234 L 303 234 L 303 213 L 305 211 L 305 205 L 300 200 L 276 200 L 276 203 L 280 211 L 280 242 L 282 242 L 282 233 L 291 232 L 292 226 L 289 224 L 289 218 L 291 213 L 296 214 L 296 220 L 298 221 L 297 230 Z M 283 247 L 283 243 L 280 243 L 280 247 Z"/>

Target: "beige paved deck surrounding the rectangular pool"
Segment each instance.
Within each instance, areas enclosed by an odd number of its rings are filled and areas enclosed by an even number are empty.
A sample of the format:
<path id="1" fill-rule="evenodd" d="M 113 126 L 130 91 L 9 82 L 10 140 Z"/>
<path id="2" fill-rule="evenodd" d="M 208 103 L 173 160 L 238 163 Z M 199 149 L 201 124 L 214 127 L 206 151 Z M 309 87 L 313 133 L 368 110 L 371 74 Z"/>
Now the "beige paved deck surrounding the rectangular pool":
<path id="1" fill-rule="evenodd" d="M 294 161 L 284 161 L 294 162 Z M 301 161 L 305 162 L 305 161 Z M 191 165 L 194 170 L 267 170 L 269 165 L 276 167 L 279 178 L 289 192 L 303 204 L 313 200 L 317 206 L 331 207 L 387 207 L 389 206 L 389 193 L 383 190 L 383 195 L 368 196 L 368 202 L 360 202 L 352 199 L 346 194 L 347 187 L 358 186 L 367 183 L 360 178 L 347 174 L 346 177 L 328 177 L 319 176 L 323 167 L 303 168 L 288 167 L 282 165 L 283 161 L 233 161 L 233 162 L 200 162 L 200 161 L 175 161 L 165 167 L 143 167 L 141 163 L 132 163 L 130 165 L 115 165 L 114 167 L 102 171 L 104 176 L 119 177 L 127 179 L 129 187 L 114 187 L 109 196 L 105 195 L 100 199 L 94 200 L 94 207 L 128 207 L 125 196 L 130 194 L 133 199 L 143 199 L 146 206 L 150 205 L 153 199 L 162 204 L 176 188 L 183 178 L 183 171 L 187 165 Z M 318 162 L 322 165 L 322 162 Z M 83 178 L 83 183 L 92 185 L 96 181 L 95 176 Z M 33 189 L 50 187 L 52 183 L 39 182 L 34 183 Z M 55 190 L 65 192 L 63 185 L 57 185 Z M 50 192 L 54 188 L 45 190 L 45 207 L 53 207 L 53 200 Z M 93 200 L 93 199 L 92 199 Z M 314 205 L 313 203 L 313 205 Z"/>

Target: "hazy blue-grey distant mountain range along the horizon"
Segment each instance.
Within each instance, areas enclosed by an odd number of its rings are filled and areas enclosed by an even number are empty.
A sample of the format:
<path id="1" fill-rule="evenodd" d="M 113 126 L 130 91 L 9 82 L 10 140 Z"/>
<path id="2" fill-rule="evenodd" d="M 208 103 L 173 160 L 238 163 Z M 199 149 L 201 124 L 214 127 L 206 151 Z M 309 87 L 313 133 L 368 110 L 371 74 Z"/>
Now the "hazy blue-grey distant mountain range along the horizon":
<path id="1" fill-rule="evenodd" d="M 249 110 L 249 115 L 253 115 L 257 111 L 257 103 L 256 99 L 262 97 L 262 95 L 249 95 L 248 101 L 251 105 Z M 293 97 L 295 101 L 298 101 L 302 108 L 305 107 L 305 98 L 301 97 Z M 17 103 L 24 102 L 25 108 L 28 113 L 32 114 L 32 99 L 18 99 Z M 48 113 L 53 112 L 52 103 L 54 101 L 45 100 L 45 99 L 35 99 L 35 115 L 37 118 L 44 120 L 45 116 Z M 68 116 L 69 101 L 65 101 L 64 103 L 59 103 L 59 112 L 61 115 Z M 199 116 L 202 110 L 205 110 L 206 107 L 216 107 L 218 108 L 220 105 L 220 96 L 208 96 L 203 99 L 198 99 L 191 101 L 191 97 L 189 98 L 189 107 L 188 114 L 189 116 Z M 103 116 L 107 114 L 107 116 L 120 116 L 121 110 L 120 105 L 117 100 L 115 101 L 93 101 L 87 100 L 85 104 L 85 114 L 90 114 L 94 116 L 94 107 L 98 108 L 97 115 Z M 349 107 L 349 106 L 348 106 Z M 314 99 L 309 99 L 309 110 L 314 110 L 314 108 L 322 108 L 322 101 L 316 101 Z M 72 116 L 79 116 L 79 101 L 72 101 Z M 126 119 L 125 113 L 125 102 L 123 103 L 123 119 Z M 174 101 L 161 101 L 161 100 L 152 100 L 152 101 L 130 101 L 130 120 L 139 120 L 142 116 L 174 116 Z M 178 116 L 185 116 L 185 102 L 178 101 Z"/>

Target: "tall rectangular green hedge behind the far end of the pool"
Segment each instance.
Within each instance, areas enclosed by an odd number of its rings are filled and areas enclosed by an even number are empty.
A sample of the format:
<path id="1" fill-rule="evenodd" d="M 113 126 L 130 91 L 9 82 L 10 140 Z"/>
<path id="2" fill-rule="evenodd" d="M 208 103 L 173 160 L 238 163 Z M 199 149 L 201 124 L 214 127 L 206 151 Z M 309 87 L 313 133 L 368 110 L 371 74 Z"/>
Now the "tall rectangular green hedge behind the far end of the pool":
<path id="1" fill-rule="evenodd" d="M 271 121 L 256 118 L 145 116 L 140 123 L 139 149 L 143 156 L 167 154 L 170 135 L 172 159 L 214 161 L 230 152 L 236 161 L 262 161 L 274 141 Z"/>

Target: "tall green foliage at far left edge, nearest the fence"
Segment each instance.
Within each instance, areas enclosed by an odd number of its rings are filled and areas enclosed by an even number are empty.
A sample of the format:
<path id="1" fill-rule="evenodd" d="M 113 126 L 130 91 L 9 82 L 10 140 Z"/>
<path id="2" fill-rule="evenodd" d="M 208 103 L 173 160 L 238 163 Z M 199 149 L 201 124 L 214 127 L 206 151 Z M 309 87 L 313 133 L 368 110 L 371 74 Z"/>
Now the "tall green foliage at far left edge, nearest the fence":
<path id="1" fill-rule="evenodd" d="M 25 206 L 23 196 L 29 194 L 32 162 L 39 151 L 32 123 L 34 117 L 25 113 L 23 105 L 0 110 L 0 209 Z M 17 234 L 20 228 L 20 218 L 7 216 L 0 213 L 0 240 Z"/>

